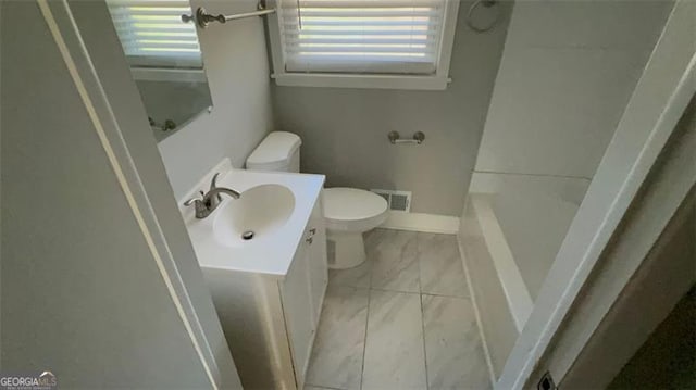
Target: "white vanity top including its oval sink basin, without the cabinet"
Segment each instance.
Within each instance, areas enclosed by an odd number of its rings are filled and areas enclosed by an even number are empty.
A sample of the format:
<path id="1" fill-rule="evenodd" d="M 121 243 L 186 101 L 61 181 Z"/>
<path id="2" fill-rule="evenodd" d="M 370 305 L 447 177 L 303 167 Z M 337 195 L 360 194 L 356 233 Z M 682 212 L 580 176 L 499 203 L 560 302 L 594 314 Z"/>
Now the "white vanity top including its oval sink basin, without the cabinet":
<path id="1" fill-rule="evenodd" d="M 198 219 L 184 201 L 208 191 L 216 173 L 219 187 L 234 188 L 241 197 L 223 194 L 223 203 Z M 321 175 L 235 169 L 228 159 L 223 160 L 178 202 L 201 269 L 285 277 L 323 185 Z M 246 231 L 253 231 L 253 238 L 243 239 Z"/>

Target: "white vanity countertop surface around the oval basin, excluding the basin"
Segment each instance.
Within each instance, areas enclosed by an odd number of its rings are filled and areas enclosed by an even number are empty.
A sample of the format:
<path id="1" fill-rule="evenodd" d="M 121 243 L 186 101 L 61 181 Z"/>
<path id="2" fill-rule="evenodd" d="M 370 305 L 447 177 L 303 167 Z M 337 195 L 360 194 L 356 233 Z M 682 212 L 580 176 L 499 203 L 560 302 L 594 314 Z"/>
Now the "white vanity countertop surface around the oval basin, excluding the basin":
<path id="1" fill-rule="evenodd" d="M 231 247 L 215 239 L 213 225 L 216 217 L 224 217 L 223 209 L 235 199 L 223 197 L 222 203 L 210 216 L 195 217 L 192 206 L 184 206 L 186 199 L 195 197 L 199 190 L 207 191 L 215 172 L 217 187 L 228 187 L 241 192 L 261 185 L 275 184 L 287 187 L 295 197 L 295 207 L 287 222 L 270 237 L 259 237 L 239 247 Z M 213 168 L 194 187 L 178 204 L 186 228 L 201 267 L 266 274 L 283 278 L 293 262 L 313 206 L 319 200 L 324 185 L 323 175 L 308 175 L 281 172 L 257 172 L 232 168 L 225 160 Z"/>

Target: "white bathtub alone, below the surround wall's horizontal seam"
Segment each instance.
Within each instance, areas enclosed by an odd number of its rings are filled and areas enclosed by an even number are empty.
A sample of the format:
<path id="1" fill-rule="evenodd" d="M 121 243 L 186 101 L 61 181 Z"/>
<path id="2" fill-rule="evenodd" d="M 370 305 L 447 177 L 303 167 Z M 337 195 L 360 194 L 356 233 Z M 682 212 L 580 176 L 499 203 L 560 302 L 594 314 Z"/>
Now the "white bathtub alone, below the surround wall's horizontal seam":
<path id="1" fill-rule="evenodd" d="M 532 313 L 577 206 L 534 190 L 468 197 L 460 238 L 494 378 Z"/>

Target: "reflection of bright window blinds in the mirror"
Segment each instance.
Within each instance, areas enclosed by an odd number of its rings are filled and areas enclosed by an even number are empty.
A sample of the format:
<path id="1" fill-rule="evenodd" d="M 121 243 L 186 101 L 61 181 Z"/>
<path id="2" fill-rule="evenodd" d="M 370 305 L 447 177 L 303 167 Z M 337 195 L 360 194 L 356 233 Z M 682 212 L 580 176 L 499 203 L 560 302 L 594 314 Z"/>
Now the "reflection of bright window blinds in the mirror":
<path id="1" fill-rule="evenodd" d="M 201 67 L 188 0 L 107 0 L 116 34 L 132 66 Z"/>

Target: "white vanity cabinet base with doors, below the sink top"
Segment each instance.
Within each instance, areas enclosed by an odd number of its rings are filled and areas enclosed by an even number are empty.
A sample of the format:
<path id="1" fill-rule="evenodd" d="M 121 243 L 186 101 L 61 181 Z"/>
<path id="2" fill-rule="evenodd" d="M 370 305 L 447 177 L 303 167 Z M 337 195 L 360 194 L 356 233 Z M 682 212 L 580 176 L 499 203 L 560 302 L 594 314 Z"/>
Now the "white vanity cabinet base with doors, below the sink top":
<path id="1" fill-rule="evenodd" d="M 245 389 L 302 389 L 328 280 L 321 197 L 287 275 L 202 271 Z"/>

